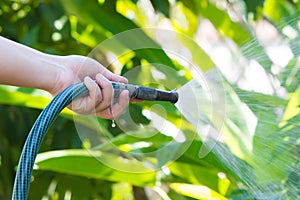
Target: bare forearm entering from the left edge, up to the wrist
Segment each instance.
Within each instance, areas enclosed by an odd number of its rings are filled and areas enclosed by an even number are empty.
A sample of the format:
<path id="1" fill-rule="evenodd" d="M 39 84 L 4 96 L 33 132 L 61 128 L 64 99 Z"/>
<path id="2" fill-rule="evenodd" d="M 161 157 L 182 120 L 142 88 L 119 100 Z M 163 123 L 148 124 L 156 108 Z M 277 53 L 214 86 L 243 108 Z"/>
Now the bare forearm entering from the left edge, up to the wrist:
<path id="1" fill-rule="evenodd" d="M 0 84 L 40 88 L 55 85 L 59 57 L 50 56 L 0 36 Z"/>

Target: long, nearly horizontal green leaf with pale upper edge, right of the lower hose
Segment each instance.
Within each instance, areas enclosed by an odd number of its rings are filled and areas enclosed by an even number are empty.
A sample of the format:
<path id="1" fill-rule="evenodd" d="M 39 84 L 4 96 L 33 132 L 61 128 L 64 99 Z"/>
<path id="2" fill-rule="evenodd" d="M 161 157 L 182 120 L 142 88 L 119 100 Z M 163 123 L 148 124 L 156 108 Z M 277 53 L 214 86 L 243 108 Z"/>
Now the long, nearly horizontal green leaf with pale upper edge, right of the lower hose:
<path id="1" fill-rule="evenodd" d="M 101 160 L 105 160 L 106 164 L 107 162 L 117 163 L 124 171 L 110 168 Z M 126 180 L 126 182 L 137 186 L 151 186 L 156 179 L 155 172 L 144 166 L 143 163 L 101 151 L 59 150 L 40 153 L 35 162 L 35 169 L 52 170 L 109 181 L 122 182 Z M 136 173 L 130 173 L 126 169 Z"/>

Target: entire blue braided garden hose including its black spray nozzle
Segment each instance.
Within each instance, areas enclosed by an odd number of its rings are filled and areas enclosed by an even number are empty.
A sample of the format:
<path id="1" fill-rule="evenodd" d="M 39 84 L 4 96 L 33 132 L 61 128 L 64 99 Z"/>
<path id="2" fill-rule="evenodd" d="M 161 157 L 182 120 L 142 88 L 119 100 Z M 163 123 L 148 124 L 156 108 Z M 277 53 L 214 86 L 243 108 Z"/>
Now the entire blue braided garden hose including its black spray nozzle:
<path id="1" fill-rule="evenodd" d="M 114 101 L 118 99 L 123 90 L 129 91 L 129 97 L 141 100 L 159 100 L 176 103 L 178 93 L 167 92 L 150 87 L 136 86 L 112 82 L 114 88 Z M 41 112 L 33 127 L 31 128 L 27 140 L 24 144 L 13 188 L 13 200 L 25 200 L 28 196 L 31 172 L 37 156 L 38 150 L 46 131 L 58 114 L 68 106 L 74 99 L 87 96 L 88 89 L 84 83 L 77 83 L 59 93 L 49 105 Z"/>

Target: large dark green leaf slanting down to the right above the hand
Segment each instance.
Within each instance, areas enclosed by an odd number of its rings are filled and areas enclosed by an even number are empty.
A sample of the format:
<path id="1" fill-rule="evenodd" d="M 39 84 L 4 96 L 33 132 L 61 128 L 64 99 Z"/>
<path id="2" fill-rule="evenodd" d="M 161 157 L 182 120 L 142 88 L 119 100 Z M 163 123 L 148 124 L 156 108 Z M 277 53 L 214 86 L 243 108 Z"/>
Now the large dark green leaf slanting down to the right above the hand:
<path id="1" fill-rule="evenodd" d="M 117 53 L 115 52 L 117 56 L 128 52 L 128 49 L 131 51 L 139 50 L 136 51 L 136 54 L 140 58 L 146 59 L 149 63 L 160 63 L 175 68 L 161 47 L 148 37 L 143 30 L 138 29 L 139 27 L 136 24 L 123 15 L 109 9 L 105 5 L 100 5 L 95 0 L 61 0 L 61 2 L 70 15 L 75 15 L 80 21 L 85 23 L 93 24 L 99 31 L 103 31 L 104 29 L 116 35 L 135 29 L 133 32 L 128 32 L 127 34 L 123 33 L 113 37 L 114 45 L 110 43 L 110 40 L 105 41 L 105 44 L 102 43 L 102 46 L 109 48 L 108 50 L 110 51 L 112 50 L 112 46 L 119 45 L 118 43 L 123 47 L 125 46 L 126 49 L 121 48 Z M 102 47 L 99 48 L 101 49 Z"/>

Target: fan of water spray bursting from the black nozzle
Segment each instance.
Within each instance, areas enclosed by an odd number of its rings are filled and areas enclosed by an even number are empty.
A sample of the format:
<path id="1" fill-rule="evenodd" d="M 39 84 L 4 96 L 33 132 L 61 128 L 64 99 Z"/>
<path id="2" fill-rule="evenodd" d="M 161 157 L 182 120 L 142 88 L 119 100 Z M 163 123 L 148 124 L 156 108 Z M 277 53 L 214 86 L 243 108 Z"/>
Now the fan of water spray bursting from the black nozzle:
<path id="1" fill-rule="evenodd" d="M 178 90 L 175 106 L 204 144 L 199 159 L 213 153 L 254 198 L 296 199 L 300 191 L 299 126 L 290 122 L 286 131 L 279 125 L 284 104 L 270 105 L 264 99 L 276 96 L 233 89 L 218 77 L 216 70 L 210 71 L 202 81 L 193 79 Z M 295 177 L 291 179 L 289 173 Z"/>

